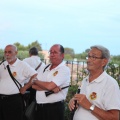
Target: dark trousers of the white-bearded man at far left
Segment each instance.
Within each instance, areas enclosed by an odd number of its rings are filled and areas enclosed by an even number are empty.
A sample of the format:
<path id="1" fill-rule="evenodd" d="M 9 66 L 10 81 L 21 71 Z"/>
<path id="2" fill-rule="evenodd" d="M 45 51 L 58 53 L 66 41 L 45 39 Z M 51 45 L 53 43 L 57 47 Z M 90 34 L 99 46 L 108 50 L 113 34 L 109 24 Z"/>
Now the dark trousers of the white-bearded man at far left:
<path id="1" fill-rule="evenodd" d="M 20 94 L 0 94 L 0 120 L 22 120 L 23 101 Z"/>

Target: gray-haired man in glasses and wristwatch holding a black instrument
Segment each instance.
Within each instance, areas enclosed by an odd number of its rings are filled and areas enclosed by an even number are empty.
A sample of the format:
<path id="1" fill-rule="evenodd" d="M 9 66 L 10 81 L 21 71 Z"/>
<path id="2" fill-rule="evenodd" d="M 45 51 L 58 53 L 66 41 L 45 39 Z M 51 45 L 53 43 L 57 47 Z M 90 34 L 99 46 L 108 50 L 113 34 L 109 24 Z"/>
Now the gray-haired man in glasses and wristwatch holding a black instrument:
<path id="1" fill-rule="evenodd" d="M 91 46 L 87 58 L 89 75 L 82 81 L 80 94 L 74 95 L 69 102 L 71 111 L 75 101 L 78 106 L 73 120 L 118 120 L 119 86 L 104 70 L 110 60 L 110 52 L 100 45 Z"/>

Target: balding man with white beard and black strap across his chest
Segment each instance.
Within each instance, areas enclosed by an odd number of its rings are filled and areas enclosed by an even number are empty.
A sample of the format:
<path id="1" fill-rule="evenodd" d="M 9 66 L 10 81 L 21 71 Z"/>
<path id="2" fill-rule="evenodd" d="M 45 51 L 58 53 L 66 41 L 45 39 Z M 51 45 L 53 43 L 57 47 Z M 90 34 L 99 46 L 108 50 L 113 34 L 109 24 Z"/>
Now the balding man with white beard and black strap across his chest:
<path id="1" fill-rule="evenodd" d="M 23 120 L 21 93 L 32 86 L 32 79 L 37 75 L 36 70 L 17 58 L 17 53 L 15 45 L 4 49 L 5 61 L 0 65 L 0 120 Z"/>

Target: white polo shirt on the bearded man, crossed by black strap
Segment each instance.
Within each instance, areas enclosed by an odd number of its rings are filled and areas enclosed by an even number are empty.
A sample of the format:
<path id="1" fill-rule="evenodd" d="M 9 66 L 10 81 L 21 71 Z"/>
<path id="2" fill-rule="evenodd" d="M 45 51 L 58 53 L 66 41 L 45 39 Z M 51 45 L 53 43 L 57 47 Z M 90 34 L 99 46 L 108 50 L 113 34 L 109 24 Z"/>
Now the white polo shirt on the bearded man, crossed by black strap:
<path id="1" fill-rule="evenodd" d="M 0 65 L 0 94 L 10 95 L 19 93 L 19 90 L 7 70 L 8 62 Z M 17 59 L 12 65 L 9 65 L 14 78 L 23 86 L 26 79 L 37 73 L 30 65 Z"/>

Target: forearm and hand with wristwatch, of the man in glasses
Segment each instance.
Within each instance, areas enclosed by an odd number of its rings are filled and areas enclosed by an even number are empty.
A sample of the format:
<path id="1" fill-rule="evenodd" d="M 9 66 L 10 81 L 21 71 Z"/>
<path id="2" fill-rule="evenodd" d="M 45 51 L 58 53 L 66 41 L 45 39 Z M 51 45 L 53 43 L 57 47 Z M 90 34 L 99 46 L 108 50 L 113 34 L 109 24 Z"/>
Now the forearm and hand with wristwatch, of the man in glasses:
<path id="1" fill-rule="evenodd" d="M 90 101 L 86 98 L 84 94 L 75 94 L 74 99 L 77 100 L 77 103 L 83 108 L 90 110 L 92 105 Z M 91 114 L 96 116 L 99 120 L 119 120 L 119 110 L 103 110 L 95 106 Z"/>

